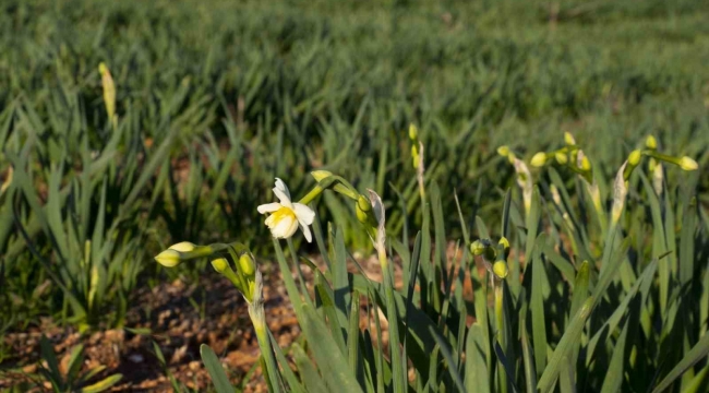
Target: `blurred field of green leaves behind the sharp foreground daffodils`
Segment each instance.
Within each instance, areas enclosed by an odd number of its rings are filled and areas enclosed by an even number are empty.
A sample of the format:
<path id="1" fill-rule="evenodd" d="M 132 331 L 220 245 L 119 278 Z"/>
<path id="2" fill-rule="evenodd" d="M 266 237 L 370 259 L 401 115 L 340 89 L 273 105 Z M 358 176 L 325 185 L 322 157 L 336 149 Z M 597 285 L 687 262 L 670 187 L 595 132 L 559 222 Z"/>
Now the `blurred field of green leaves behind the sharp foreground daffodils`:
<path id="1" fill-rule="evenodd" d="M 0 4 L 0 331 L 121 326 L 169 245 L 240 240 L 326 168 L 416 207 L 409 123 L 445 212 L 497 221 L 519 156 L 573 132 L 610 179 L 648 134 L 709 163 L 706 1 L 13 1 Z M 116 127 L 99 62 L 116 82 Z M 10 176 L 12 168 L 12 176 Z M 676 170 L 676 169 L 672 169 Z M 707 203 L 709 178 L 699 172 Z M 322 221 L 365 249 L 351 206 Z M 412 218 L 409 218 L 412 219 Z M 447 219 L 457 227 L 457 214 Z M 452 234 L 456 237 L 456 234 Z M 0 358 L 1 360 L 1 358 Z"/>

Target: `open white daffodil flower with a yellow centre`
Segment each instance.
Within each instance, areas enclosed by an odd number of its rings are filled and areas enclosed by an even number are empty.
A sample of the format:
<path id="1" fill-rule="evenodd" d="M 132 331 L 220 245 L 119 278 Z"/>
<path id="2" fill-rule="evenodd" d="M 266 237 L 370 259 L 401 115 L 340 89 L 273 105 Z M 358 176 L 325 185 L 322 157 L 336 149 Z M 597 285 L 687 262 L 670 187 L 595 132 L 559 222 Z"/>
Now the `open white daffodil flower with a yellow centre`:
<path id="1" fill-rule="evenodd" d="M 276 239 L 288 239 L 293 236 L 298 226 L 305 235 L 305 240 L 311 242 L 313 236 L 310 233 L 309 225 L 313 224 L 315 212 L 302 203 L 291 202 L 290 192 L 286 183 L 276 178 L 274 193 L 280 202 L 266 203 L 257 207 L 259 213 L 271 215 L 266 218 L 266 226 Z"/>

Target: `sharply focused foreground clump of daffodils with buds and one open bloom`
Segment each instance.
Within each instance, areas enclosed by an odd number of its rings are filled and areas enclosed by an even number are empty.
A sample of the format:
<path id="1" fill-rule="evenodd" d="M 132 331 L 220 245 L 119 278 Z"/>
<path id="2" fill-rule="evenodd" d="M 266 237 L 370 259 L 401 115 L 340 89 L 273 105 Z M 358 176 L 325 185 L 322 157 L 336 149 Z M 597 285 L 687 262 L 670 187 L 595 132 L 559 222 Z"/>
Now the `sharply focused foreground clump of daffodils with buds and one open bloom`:
<path id="1" fill-rule="evenodd" d="M 506 192 L 493 238 L 495 223 L 443 212 L 443 191 L 425 182 L 414 126 L 409 138 L 422 215 L 412 243 L 387 237 L 376 192 L 325 170 L 311 174 L 312 190 L 299 202 L 276 178 L 278 202 L 257 207 L 302 330 L 288 350 L 268 331 L 257 258 L 242 242 L 185 241 L 155 258 L 167 267 L 208 259 L 239 289 L 272 392 L 706 391 L 706 222 L 692 189 L 669 194 L 665 186 L 666 174 L 697 170 L 693 158 L 663 152 L 648 136 L 605 182 L 568 132 L 562 147 L 534 154 L 529 165 L 501 146 L 518 189 Z M 563 181 L 562 172 L 572 178 Z M 381 282 L 358 273 L 341 229 L 322 233 L 315 209 L 327 192 L 347 201 L 371 239 Z M 444 214 L 460 217 L 464 236 L 453 249 Z M 299 228 L 308 242 L 314 231 L 323 269 L 295 247 Z M 404 279 L 395 283 L 399 263 Z M 312 291 L 301 265 L 315 272 Z M 472 296 L 464 291 L 468 282 Z M 362 310 L 376 329 L 361 327 Z M 201 354 L 217 391 L 232 392 L 215 353 L 203 345 Z"/>

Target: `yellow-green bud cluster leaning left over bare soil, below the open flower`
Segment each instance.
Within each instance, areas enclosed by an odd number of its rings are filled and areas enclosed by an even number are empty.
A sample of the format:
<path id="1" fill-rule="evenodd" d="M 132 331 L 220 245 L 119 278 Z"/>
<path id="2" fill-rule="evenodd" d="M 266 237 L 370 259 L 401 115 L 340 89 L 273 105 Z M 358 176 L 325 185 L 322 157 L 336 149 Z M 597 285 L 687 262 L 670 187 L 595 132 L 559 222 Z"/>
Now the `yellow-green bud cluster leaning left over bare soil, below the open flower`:
<path id="1" fill-rule="evenodd" d="M 163 266 L 175 267 L 184 261 L 201 258 L 211 258 L 212 267 L 229 279 L 250 306 L 260 307 L 263 303 L 261 273 L 251 251 L 239 242 L 196 246 L 182 241 L 160 252 L 155 260 Z"/>

